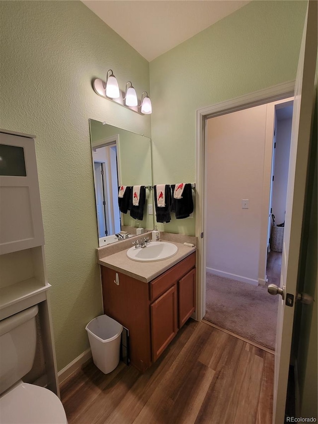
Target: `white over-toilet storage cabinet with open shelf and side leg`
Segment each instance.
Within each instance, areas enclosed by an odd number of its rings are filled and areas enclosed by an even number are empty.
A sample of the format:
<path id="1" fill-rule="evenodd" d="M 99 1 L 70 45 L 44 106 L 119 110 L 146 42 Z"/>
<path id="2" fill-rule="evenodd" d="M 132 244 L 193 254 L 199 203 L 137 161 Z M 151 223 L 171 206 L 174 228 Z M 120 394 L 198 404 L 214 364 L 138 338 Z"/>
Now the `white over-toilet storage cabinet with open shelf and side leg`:
<path id="1" fill-rule="evenodd" d="M 0 320 L 38 305 L 41 381 L 60 396 L 34 138 L 0 130 Z"/>

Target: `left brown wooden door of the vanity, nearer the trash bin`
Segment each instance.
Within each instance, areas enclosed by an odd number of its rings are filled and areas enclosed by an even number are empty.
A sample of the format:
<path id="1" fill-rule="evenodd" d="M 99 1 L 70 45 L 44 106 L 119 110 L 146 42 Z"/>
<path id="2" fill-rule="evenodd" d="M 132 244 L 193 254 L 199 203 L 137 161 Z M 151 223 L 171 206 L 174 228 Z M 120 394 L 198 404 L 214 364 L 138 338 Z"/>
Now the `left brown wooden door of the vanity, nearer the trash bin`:
<path id="1" fill-rule="evenodd" d="M 150 305 L 150 315 L 152 359 L 156 361 L 178 331 L 175 284 Z"/>

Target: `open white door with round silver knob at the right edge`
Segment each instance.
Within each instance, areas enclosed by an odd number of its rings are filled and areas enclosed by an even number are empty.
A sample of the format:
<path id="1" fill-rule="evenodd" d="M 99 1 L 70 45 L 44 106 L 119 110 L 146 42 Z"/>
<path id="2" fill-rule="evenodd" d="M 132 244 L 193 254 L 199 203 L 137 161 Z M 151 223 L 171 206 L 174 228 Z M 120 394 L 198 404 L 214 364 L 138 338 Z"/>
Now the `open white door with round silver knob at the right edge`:
<path id="1" fill-rule="evenodd" d="M 309 1 L 297 70 L 289 162 L 281 287 L 285 299 L 278 308 L 273 423 L 284 422 L 287 380 L 297 292 L 297 276 L 303 221 L 311 124 L 315 99 L 317 58 L 317 2 Z M 290 295 L 294 296 L 293 306 Z"/>

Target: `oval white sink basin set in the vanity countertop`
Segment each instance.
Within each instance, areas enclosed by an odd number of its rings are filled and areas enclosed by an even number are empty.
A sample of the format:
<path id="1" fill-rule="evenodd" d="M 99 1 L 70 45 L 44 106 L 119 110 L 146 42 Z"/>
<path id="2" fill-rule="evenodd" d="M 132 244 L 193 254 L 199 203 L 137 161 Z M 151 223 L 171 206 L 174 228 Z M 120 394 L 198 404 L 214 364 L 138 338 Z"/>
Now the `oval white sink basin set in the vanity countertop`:
<path id="1" fill-rule="evenodd" d="M 167 259 L 178 252 L 177 246 L 167 242 L 151 242 L 145 248 L 130 248 L 127 251 L 129 259 L 139 262 L 154 262 Z"/>

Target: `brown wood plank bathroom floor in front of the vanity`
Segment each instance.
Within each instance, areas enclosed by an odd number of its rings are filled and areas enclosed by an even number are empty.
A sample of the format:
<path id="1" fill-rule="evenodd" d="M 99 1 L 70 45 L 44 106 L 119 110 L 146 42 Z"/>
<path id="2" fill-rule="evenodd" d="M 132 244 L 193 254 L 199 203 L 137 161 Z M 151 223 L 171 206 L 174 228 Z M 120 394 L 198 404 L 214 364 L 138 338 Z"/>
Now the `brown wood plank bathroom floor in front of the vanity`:
<path id="1" fill-rule="evenodd" d="M 270 424 L 274 356 L 188 320 L 144 374 L 92 363 L 61 387 L 69 424 Z"/>

